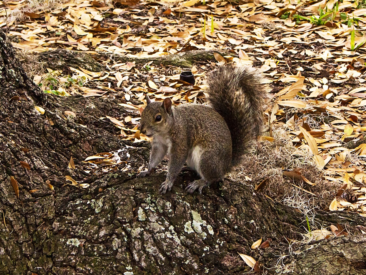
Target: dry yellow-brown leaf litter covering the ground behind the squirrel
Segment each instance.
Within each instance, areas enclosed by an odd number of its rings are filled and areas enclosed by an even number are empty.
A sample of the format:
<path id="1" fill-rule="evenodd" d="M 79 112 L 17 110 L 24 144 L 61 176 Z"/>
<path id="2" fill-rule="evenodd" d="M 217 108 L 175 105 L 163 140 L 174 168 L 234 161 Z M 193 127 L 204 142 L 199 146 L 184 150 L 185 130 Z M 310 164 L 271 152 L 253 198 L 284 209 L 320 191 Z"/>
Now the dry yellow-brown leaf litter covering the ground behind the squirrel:
<path id="1" fill-rule="evenodd" d="M 103 71 L 70 67 L 65 74 L 42 64 L 44 72 L 29 74 L 46 93 L 119 95 L 128 115 L 104 118 L 132 142 L 150 140 L 138 131 L 146 94 L 160 101 L 169 97 L 176 105 L 205 103 L 206 74 L 216 66 L 258 67 L 271 87 L 266 132 L 229 177 L 261 184 L 266 195 L 289 204 L 296 193 L 316 208 L 366 216 L 366 9 L 361 1 L 55 0 L 45 5 L 3 0 L 0 7 L 0 27 L 19 53 L 26 53 L 21 59 L 53 49 L 96 57 Z M 190 68 L 194 86 L 179 81 L 186 69 L 149 61 L 217 49 L 228 55 L 215 53 L 215 60 Z M 98 59 L 100 53 L 107 58 Z M 145 63 L 136 63 L 143 58 Z M 128 170 L 119 152 L 109 154 L 80 162 L 89 165 L 83 166 L 89 173 Z M 71 169 L 78 166 L 70 160 Z"/>

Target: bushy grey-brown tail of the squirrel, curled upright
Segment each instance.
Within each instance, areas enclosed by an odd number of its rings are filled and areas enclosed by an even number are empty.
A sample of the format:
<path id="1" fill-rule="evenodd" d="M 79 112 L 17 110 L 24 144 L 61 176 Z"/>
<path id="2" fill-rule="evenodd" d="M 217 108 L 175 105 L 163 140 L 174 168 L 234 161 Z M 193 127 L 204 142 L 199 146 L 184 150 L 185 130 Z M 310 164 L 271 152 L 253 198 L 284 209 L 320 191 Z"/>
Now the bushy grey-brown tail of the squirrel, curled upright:
<path id="1" fill-rule="evenodd" d="M 236 165 L 262 129 L 267 85 L 254 68 L 230 65 L 212 72 L 207 83 L 208 101 L 230 129 L 232 165 Z"/>

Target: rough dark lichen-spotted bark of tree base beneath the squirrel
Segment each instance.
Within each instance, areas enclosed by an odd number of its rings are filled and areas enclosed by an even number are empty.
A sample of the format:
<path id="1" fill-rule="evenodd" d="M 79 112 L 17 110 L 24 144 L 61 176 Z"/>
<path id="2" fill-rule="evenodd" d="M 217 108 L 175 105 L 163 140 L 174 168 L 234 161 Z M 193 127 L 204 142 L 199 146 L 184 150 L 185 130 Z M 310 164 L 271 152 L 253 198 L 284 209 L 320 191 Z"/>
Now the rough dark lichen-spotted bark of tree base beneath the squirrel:
<path id="1" fill-rule="evenodd" d="M 238 252 L 254 257 L 262 270 L 271 268 L 270 274 L 280 271 L 275 265 L 278 255 L 289 254 L 286 238 L 299 240 L 306 232 L 302 214 L 240 182 L 187 195 L 190 172 L 181 173 L 171 193 L 158 194 L 163 173 L 135 177 L 149 144 L 119 141 L 112 123 L 99 118 L 128 112 L 118 98 L 42 94 L 1 30 L 0 39 L 0 274 L 244 274 L 250 268 Z M 66 110 L 76 117 L 65 116 Z M 97 176 L 67 168 L 71 156 L 78 165 L 117 149 L 131 163 L 128 172 Z M 67 175 L 90 187 L 66 185 Z M 10 176 L 19 182 L 19 199 Z M 366 237 L 359 234 L 366 219 L 319 212 L 317 221 L 340 223 L 355 236 L 293 246 L 282 271 L 366 274 Z M 270 247 L 251 251 L 261 237 L 272 239 Z"/>

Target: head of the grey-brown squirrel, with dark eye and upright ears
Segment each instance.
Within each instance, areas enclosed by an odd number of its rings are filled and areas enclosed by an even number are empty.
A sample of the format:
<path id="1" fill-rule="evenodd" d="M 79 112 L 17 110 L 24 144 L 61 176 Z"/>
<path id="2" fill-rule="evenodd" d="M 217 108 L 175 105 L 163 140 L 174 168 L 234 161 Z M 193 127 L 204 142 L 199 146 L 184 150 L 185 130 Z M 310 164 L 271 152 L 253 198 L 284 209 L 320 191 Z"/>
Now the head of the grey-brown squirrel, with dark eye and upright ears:
<path id="1" fill-rule="evenodd" d="M 163 103 L 151 101 L 146 95 L 146 108 L 141 112 L 140 132 L 146 136 L 164 134 L 173 121 L 172 101 L 165 98 Z"/>

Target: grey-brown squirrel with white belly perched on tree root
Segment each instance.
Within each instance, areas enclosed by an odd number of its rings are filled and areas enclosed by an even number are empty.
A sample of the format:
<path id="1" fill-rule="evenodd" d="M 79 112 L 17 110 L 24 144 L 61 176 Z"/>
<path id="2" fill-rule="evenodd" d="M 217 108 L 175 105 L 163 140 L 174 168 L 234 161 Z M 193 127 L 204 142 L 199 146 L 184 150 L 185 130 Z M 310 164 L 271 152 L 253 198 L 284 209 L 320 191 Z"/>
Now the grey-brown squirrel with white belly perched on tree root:
<path id="1" fill-rule="evenodd" d="M 170 98 L 151 101 L 141 112 L 140 132 L 153 137 L 147 171 L 150 175 L 168 155 L 168 174 L 159 191 L 170 191 L 184 163 L 201 177 L 187 185 L 186 191 L 224 181 L 253 146 L 263 125 L 267 86 L 256 69 L 225 65 L 208 78 L 210 106 L 194 103 L 172 106 Z M 142 110 L 142 109 L 141 109 Z"/>

